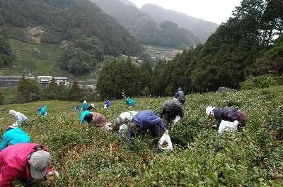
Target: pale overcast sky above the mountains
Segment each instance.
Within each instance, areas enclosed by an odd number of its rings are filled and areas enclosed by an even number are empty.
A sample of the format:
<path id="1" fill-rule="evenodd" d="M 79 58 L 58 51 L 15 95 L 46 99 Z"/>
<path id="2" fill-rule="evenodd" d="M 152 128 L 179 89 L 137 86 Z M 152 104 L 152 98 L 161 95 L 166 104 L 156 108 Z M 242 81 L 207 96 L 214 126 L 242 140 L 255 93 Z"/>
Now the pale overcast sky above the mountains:
<path id="1" fill-rule="evenodd" d="M 186 13 L 188 16 L 220 24 L 231 17 L 241 0 L 129 0 L 139 8 L 144 4 L 156 4 L 163 8 Z"/>

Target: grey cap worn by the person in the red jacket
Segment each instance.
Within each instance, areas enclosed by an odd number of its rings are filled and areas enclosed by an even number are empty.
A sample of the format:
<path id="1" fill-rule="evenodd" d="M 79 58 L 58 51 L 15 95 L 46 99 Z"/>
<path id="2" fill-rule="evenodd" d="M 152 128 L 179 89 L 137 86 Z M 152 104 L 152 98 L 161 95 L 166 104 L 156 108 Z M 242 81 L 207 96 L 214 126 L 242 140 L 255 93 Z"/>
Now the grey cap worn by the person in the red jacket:
<path id="1" fill-rule="evenodd" d="M 47 167 L 51 164 L 50 153 L 45 150 L 37 150 L 30 156 L 30 175 L 33 179 L 41 179 L 46 175 Z"/>

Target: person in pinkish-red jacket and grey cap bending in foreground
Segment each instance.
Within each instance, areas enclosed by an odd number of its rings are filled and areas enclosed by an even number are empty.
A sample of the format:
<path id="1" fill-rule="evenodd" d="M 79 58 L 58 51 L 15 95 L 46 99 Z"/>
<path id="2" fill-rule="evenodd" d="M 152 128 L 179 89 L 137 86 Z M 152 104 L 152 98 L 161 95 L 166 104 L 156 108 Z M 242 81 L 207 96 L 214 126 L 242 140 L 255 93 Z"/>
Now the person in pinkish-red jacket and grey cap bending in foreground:
<path id="1" fill-rule="evenodd" d="M 6 147 L 0 152 L 0 186 L 10 187 L 16 179 L 23 186 L 30 186 L 33 179 L 59 178 L 57 171 L 51 171 L 50 164 L 49 150 L 37 143 L 20 143 Z"/>

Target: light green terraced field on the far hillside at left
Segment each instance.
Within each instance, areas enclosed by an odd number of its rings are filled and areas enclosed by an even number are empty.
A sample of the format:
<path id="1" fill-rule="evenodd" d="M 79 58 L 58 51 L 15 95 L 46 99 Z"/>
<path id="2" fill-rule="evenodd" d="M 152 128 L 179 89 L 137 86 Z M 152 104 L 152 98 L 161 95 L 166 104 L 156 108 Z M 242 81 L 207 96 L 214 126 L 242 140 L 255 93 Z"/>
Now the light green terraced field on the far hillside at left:
<path id="1" fill-rule="evenodd" d="M 41 76 L 67 76 L 59 69 L 57 57 L 61 49 L 56 44 L 33 44 L 11 40 L 15 60 L 11 66 L 0 69 L 1 76 L 22 76 L 33 73 Z"/>

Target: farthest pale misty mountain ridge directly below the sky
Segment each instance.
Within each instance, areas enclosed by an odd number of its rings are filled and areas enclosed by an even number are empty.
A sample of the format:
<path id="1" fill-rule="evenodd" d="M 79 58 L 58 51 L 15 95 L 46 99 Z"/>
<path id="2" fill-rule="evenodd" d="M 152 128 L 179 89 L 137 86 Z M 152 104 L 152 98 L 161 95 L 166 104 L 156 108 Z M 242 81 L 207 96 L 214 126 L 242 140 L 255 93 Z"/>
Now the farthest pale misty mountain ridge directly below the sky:
<path id="1" fill-rule="evenodd" d="M 140 10 L 148 13 L 157 23 L 166 20 L 177 23 L 180 28 L 186 28 L 187 30 L 192 31 L 192 33 L 199 37 L 202 42 L 205 42 L 209 35 L 218 28 L 216 23 L 187 16 L 185 13 L 166 10 L 165 8 L 154 4 L 145 4 Z"/>

